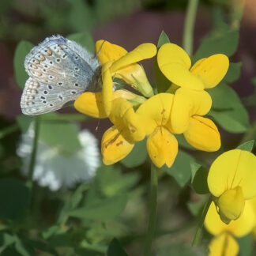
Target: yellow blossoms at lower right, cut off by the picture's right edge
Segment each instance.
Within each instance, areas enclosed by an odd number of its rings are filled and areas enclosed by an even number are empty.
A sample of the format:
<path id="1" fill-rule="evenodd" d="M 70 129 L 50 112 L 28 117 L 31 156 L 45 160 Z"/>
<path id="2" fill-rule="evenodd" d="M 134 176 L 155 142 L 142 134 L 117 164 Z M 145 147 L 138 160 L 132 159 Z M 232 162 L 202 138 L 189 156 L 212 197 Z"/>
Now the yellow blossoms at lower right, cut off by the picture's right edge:
<path id="1" fill-rule="evenodd" d="M 237 255 L 234 237 L 255 232 L 256 156 L 241 149 L 224 152 L 213 162 L 208 175 L 213 202 L 205 228 L 214 235 L 209 255 Z"/>

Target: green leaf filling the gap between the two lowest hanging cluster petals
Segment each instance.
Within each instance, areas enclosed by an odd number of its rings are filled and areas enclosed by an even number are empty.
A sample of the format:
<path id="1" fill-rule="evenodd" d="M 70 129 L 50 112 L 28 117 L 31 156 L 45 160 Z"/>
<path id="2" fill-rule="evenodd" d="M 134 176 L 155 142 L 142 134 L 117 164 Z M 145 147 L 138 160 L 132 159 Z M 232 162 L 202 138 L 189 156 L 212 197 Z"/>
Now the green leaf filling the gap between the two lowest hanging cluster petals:
<path id="1" fill-rule="evenodd" d="M 139 141 L 134 145 L 134 149 L 121 163 L 126 168 L 134 168 L 145 162 L 147 159 L 146 139 Z"/>

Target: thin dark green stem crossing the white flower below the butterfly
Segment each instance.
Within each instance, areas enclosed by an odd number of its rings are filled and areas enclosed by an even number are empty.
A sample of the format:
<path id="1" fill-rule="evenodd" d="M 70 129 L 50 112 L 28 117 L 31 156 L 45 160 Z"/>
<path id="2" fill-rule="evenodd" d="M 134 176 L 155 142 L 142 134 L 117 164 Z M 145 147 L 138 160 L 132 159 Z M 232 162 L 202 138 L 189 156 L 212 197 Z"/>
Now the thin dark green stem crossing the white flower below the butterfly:
<path id="1" fill-rule="evenodd" d="M 28 182 L 27 185 L 32 189 L 32 178 L 33 178 L 33 172 L 34 172 L 34 167 L 36 164 L 36 152 L 37 152 L 37 145 L 38 145 L 38 139 L 39 139 L 39 134 L 40 134 L 40 116 L 37 115 L 34 123 L 34 139 L 33 139 L 33 144 L 32 144 L 32 153 L 31 153 L 31 158 L 28 166 Z"/>

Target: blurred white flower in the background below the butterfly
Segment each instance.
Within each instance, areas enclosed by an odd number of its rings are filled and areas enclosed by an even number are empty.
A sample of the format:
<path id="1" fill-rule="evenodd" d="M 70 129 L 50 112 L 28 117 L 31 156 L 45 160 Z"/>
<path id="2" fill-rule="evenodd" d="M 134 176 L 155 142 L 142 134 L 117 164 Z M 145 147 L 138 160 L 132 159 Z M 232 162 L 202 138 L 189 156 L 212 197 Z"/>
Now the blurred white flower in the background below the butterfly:
<path id="1" fill-rule="evenodd" d="M 28 132 L 22 135 L 17 148 L 17 155 L 23 160 L 21 171 L 24 175 L 28 173 L 33 137 L 34 130 L 30 126 Z M 57 146 L 52 147 L 39 140 L 33 180 L 36 180 L 40 186 L 58 190 L 61 187 L 72 187 L 75 183 L 92 179 L 100 166 L 98 141 L 88 130 L 81 130 L 78 138 L 81 149 L 72 156 L 62 154 Z"/>

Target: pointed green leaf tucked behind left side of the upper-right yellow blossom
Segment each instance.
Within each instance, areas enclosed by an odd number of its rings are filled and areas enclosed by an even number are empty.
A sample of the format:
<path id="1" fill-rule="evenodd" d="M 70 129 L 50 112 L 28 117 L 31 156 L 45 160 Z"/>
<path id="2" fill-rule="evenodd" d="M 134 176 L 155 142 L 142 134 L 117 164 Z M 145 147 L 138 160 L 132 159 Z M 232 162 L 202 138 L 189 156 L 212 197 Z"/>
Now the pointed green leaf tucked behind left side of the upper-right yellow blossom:
<path id="1" fill-rule="evenodd" d="M 157 47 L 160 48 L 164 43 L 170 43 L 170 40 L 166 35 L 166 33 L 162 31 L 157 43 Z M 171 81 L 169 81 L 159 69 L 156 57 L 153 63 L 153 73 L 154 73 L 155 82 L 157 86 L 157 92 L 158 93 L 166 92 L 168 88 L 171 86 Z"/>

